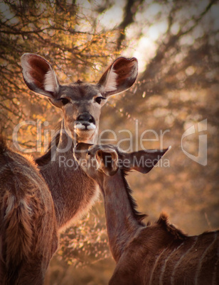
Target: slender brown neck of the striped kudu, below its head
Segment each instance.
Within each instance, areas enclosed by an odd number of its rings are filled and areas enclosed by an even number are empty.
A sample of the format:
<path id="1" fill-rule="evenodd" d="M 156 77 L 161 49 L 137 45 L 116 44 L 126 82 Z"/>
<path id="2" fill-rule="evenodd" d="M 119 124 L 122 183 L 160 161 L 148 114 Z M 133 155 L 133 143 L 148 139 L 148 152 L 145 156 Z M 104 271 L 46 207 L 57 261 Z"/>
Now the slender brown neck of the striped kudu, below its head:
<path id="1" fill-rule="evenodd" d="M 144 227 L 141 223 L 144 215 L 136 211 L 131 189 L 120 169 L 112 177 L 105 176 L 101 189 L 105 201 L 110 250 L 117 262 L 137 230 Z"/>

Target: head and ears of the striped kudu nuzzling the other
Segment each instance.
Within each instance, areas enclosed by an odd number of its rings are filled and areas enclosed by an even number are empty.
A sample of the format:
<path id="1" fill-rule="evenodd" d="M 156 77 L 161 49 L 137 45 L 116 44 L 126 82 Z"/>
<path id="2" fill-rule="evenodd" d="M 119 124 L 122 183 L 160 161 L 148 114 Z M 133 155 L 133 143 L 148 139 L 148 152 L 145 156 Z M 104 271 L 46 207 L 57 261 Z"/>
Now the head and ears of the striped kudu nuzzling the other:
<path id="1" fill-rule="evenodd" d="M 113 176 L 118 169 L 148 173 L 169 148 L 126 153 L 114 145 L 78 143 L 74 147 L 74 157 L 88 176 L 101 185 L 100 177 Z"/>

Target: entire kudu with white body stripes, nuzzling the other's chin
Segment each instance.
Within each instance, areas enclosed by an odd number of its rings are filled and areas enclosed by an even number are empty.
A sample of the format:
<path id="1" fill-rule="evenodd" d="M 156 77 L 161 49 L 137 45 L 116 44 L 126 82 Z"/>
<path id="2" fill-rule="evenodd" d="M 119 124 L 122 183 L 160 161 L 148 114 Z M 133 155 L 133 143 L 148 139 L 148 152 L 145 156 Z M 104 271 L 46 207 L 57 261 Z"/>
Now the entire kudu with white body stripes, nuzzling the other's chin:
<path id="1" fill-rule="evenodd" d="M 135 209 L 126 171 L 148 172 L 165 150 L 124 154 L 107 145 L 88 147 L 79 143 L 75 157 L 104 196 L 110 250 L 117 262 L 110 285 L 219 284 L 218 231 L 188 236 L 164 214 L 144 225 L 144 215 Z"/>

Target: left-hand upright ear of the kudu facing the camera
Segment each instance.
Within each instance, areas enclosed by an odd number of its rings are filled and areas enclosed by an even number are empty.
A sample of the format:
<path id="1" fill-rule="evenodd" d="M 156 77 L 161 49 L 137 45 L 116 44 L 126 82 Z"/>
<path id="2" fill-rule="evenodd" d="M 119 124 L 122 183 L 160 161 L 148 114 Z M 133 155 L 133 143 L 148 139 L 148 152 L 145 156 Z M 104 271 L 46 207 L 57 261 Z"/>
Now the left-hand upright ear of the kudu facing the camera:
<path id="1" fill-rule="evenodd" d="M 29 89 L 50 99 L 57 107 L 62 104 L 58 99 L 60 85 L 50 63 L 40 55 L 25 53 L 21 57 L 23 79 Z"/>

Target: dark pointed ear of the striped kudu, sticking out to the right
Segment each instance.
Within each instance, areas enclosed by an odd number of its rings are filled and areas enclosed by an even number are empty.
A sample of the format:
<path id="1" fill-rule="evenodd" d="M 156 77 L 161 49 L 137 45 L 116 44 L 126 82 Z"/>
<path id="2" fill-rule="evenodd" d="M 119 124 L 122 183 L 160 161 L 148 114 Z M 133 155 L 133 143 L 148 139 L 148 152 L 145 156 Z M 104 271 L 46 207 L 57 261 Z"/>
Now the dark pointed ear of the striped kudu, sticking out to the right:
<path id="1" fill-rule="evenodd" d="M 119 155 L 119 166 L 125 170 L 137 170 L 141 173 L 149 172 L 157 162 L 163 157 L 167 150 L 139 150 L 138 152 L 125 153 Z"/>

